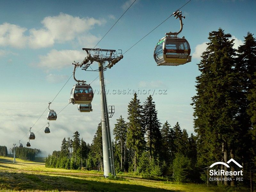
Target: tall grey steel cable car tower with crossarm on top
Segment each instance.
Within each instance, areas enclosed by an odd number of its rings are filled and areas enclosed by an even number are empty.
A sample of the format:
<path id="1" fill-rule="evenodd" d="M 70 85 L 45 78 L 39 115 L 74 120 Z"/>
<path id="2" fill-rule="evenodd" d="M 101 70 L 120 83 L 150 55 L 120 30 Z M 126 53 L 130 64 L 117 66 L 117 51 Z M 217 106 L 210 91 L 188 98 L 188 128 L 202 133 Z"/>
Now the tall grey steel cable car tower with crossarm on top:
<path id="1" fill-rule="evenodd" d="M 114 167 L 114 156 L 110 138 L 109 116 L 107 107 L 107 96 L 105 92 L 104 71 L 113 67 L 118 61 L 123 59 L 122 50 L 117 53 L 116 50 L 99 49 L 99 48 L 83 48 L 87 56 L 79 64 L 82 70 L 99 71 L 100 77 L 100 95 L 101 95 L 101 128 L 102 128 L 102 148 L 103 148 L 103 166 L 104 177 L 108 177 L 109 173 L 116 175 Z M 93 61 L 99 63 L 99 69 L 88 70 Z M 107 63 L 107 64 L 106 64 Z M 113 108 L 113 107 L 112 107 Z M 113 113 L 113 110 L 112 110 Z M 111 115 L 112 117 L 113 115 Z"/>

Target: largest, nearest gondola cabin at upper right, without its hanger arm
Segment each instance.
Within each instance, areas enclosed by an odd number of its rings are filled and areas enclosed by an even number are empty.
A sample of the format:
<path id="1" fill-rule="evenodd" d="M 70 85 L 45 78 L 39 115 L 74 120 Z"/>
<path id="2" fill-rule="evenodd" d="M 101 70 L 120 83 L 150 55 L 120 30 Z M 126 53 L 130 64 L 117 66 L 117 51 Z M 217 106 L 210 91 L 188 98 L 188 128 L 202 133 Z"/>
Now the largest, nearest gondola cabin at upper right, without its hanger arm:
<path id="1" fill-rule="evenodd" d="M 183 38 L 165 36 L 156 44 L 154 59 L 158 66 L 178 66 L 191 61 L 188 41 Z"/>

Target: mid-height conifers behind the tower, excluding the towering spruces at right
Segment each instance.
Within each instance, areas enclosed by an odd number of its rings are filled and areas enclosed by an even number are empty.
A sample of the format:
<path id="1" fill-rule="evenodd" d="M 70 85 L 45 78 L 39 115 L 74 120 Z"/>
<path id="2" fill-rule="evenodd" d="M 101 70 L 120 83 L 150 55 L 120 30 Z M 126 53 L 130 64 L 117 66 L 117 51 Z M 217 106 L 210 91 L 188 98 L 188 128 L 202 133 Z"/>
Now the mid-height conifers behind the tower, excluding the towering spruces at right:
<path id="1" fill-rule="evenodd" d="M 186 169 L 196 162 L 196 137 L 190 137 L 185 129 L 166 121 L 162 128 L 157 118 L 156 105 L 151 95 L 140 104 L 137 94 L 128 105 L 128 120 L 116 119 L 112 141 L 116 172 L 135 172 L 144 177 L 169 175 L 179 181 L 194 180 L 193 176 L 183 177 Z M 182 165 L 180 161 L 189 162 Z M 98 124 L 92 143 L 80 139 L 75 132 L 73 140 L 62 140 L 61 150 L 53 151 L 45 160 L 46 167 L 65 169 L 103 170 L 102 131 Z M 174 170 L 174 171 L 173 171 Z"/>

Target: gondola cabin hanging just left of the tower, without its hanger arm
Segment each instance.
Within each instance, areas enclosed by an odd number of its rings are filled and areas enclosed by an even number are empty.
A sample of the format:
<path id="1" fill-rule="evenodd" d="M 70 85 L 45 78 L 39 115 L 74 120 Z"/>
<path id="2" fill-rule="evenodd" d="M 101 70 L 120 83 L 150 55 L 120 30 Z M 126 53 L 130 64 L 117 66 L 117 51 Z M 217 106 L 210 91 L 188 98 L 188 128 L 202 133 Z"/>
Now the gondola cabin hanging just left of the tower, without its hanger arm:
<path id="1" fill-rule="evenodd" d="M 69 103 L 90 104 L 93 99 L 92 87 L 88 84 L 76 84 L 70 93 Z"/>

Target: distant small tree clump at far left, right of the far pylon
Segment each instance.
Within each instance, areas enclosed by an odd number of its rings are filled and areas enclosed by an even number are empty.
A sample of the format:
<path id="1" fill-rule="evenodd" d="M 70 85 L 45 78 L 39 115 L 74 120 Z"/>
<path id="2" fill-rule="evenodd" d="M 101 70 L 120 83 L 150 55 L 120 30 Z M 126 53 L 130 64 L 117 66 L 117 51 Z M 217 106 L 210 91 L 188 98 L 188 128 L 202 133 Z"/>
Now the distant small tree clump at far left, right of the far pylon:
<path id="1" fill-rule="evenodd" d="M 12 148 L 12 153 L 14 152 L 14 147 Z M 27 148 L 27 147 L 15 147 L 15 157 L 23 159 L 23 160 L 29 160 L 29 161 L 34 161 L 35 156 L 37 154 L 41 153 L 40 149 L 32 149 L 32 148 Z"/>

